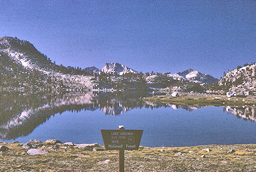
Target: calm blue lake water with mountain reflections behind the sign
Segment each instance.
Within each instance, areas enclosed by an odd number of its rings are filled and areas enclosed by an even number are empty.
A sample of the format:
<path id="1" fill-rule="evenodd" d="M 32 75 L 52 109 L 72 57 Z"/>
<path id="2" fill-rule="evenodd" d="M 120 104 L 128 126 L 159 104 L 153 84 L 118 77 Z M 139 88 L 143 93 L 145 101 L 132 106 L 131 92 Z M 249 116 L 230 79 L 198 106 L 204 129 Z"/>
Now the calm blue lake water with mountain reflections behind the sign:
<path id="1" fill-rule="evenodd" d="M 142 146 L 256 144 L 254 108 L 181 107 L 135 93 L 2 94 L 0 141 L 98 142 L 100 129 L 143 129 Z"/>

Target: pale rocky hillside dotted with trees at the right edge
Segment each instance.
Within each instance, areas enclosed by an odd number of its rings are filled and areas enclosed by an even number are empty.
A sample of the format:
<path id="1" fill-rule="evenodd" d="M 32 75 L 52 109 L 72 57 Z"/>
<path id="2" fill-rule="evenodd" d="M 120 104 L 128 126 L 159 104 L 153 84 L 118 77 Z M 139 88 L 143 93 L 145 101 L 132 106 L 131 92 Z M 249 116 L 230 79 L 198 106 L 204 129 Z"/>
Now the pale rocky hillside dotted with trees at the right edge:
<path id="1" fill-rule="evenodd" d="M 256 91 L 255 78 L 256 64 L 239 66 L 221 78 L 218 85 L 224 86 L 230 91 Z"/>

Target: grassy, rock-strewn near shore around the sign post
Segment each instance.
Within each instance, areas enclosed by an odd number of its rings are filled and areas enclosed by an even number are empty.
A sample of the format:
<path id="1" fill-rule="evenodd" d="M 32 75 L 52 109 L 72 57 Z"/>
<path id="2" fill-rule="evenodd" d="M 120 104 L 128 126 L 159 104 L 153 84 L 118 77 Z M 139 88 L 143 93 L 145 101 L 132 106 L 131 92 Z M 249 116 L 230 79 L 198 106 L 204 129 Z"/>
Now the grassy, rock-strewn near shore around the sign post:
<path id="1" fill-rule="evenodd" d="M 0 142 L 0 171 L 117 171 L 118 151 L 51 139 Z M 254 171 L 256 144 L 125 151 L 125 171 Z"/>

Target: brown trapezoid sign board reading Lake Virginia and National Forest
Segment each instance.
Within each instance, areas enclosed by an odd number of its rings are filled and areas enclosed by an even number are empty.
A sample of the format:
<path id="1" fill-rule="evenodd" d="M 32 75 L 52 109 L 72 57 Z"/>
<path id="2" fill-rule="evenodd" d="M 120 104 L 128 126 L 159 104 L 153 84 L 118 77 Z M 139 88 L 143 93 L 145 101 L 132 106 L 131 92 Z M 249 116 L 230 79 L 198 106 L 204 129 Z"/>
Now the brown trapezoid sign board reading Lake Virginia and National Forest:
<path id="1" fill-rule="evenodd" d="M 106 150 L 138 150 L 143 130 L 101 129 Z"/>

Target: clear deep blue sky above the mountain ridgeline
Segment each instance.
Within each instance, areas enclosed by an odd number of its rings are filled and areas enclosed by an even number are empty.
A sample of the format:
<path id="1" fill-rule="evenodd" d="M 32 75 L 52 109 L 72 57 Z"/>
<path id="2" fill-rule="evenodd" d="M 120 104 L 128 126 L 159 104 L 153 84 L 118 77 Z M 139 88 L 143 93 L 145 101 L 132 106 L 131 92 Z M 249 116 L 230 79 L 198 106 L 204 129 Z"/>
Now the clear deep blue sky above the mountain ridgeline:
<path id="1" fill-rule="evenodd" d="M 144 72 L 220 78 L 256 61 L 256 1 L 6 1 L 0 37 L 28 40 L 56 64 L 119 62 Z"/>

